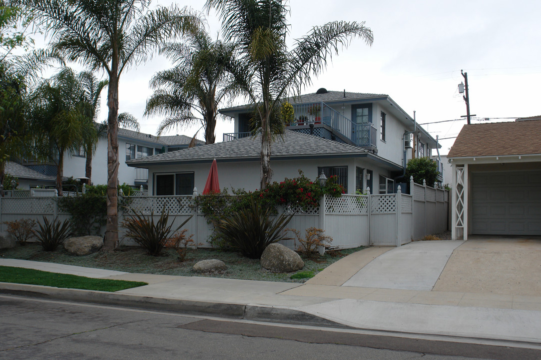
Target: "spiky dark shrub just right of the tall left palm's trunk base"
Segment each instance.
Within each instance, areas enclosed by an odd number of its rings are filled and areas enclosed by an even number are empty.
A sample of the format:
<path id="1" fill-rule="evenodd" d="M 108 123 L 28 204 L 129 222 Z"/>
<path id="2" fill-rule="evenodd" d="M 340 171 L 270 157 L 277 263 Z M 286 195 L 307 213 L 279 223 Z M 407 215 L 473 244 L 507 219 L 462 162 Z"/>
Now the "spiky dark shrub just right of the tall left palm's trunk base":
<path id="1" fill-rule="evenodd" d="M 160 219 L 156 222 L 154 222 L 153 211 L 150 212 L 148 218 L 143 213 L 137 213 L 134 210 L 131 210 L 131 212 L 133 214 L 130 214 L 130 217 L 121 224 L 122 227 L 128 230 L 124 236 L 133 239 L 137 244 L 146 249 L 151 256 L 158 256 L 162 252 L 170 235 L 179 230 L 193 217 L 193 215 L 190 216 L 175 230 L 171 230 L 173 222 L 168 225 L 169 213 L 165 212 L 165 208 L 162 210 Z"/>

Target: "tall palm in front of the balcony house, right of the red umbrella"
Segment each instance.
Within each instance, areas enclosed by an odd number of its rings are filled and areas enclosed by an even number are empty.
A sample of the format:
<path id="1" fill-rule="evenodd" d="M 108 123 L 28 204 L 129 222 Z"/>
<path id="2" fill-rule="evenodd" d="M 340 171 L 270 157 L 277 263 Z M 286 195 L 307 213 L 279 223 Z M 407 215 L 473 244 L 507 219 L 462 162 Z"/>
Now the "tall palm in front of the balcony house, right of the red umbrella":
<path id="1" fill-rule="evenodd" d="M 216 9 L 225 40 L 237 49 L 230 71 L 234 81 L 255 109 L 261 123 L 261 189 L 271 178 L 271 130 L 273 114 L 285 97 L 299 94 L 311 84 L 311 76 L 326 68 L 327 61 L 354 37 L 372 44 L 373 36 L 365 23 L 329 22 L 286 46 L 289 7 L 282 0 L 207 0 L 207 10 Z"/>

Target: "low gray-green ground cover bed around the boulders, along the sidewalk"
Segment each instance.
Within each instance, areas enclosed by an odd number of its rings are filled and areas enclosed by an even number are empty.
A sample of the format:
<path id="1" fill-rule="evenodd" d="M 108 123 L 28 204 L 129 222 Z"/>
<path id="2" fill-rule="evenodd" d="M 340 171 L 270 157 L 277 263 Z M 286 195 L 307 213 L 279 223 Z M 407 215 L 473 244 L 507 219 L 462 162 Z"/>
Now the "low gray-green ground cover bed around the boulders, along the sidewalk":
<path id="1" fill-rule="evenodd" d="M 274 282 L 304 283 L 325 267 L 331 265 L 342 257 L 353 252 L 362 250 L 357 247 L 347 250 L 327 252 L 324 256 L 315 259 L 302 258 L 305 266 L 302 270 L 292 273 L 273 273 L 263 269 L 259 260 L 248 259 L 239 253 L 220 251 L 215 249 L 198 248 L 189 250 L 186 260 L 178 260 L 177 254 L 166 249 L 162 256 L 148 256 L 140 247 L 123 247 L 114 252 L 97 252 L 88 256 L 73 256 L 64 250 L 62 246 L 56 251 L 44 252 L 41 246 L 30 243 L 25 246 L 17 245 L 14 248 L 1 250 L 0 256 L 11 259 L 23 259 L 32 261 L 45 261 L 49 263 L 67 264 L 76 266 L 95 267 L 98 269 L 117 270 L 136 273 L 165 274 L 176 276 L 207 276 L 230 279 L 267 280 Z M 302 257 L 302 256 L 301 256 Z M 199 260 L 219 259 L 226 263 L 228 269 L 223 272 L 199 274 L 192 271 L 192 267 Z M 296 276 L 294 276 L 297 274 Z M 291 278 L 293 275 L 293 279 Z"/>

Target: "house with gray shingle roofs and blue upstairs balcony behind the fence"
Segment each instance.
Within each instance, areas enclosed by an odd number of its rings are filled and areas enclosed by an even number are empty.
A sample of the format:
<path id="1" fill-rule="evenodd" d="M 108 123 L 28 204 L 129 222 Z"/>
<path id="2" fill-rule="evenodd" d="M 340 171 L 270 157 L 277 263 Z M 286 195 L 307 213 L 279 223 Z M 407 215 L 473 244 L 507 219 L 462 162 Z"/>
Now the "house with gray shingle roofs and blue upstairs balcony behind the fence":
<path id="1" fill-rule="evenodd" d="M 324 171 L 351 194 L 366 187 L 393 193 L 395 181 L 408 182 L 401 177 L 407 160 L 430 156 L 438 146 L 388 95 L 320 89 L 289 101 L 295 120 L 271 145 L 272 181 L 294 178 L 299 169 L 311 179 Z M 127 163 L 149 169 L 149 193 L 191 194 L 194 185 L 201 191 L 214 158 L 222 188 L 259 187 L 261 142 L 250 137 L 250 108 L 220 112 L 235 120 L 235 133 L 224 134 L 224 142 Z"/>

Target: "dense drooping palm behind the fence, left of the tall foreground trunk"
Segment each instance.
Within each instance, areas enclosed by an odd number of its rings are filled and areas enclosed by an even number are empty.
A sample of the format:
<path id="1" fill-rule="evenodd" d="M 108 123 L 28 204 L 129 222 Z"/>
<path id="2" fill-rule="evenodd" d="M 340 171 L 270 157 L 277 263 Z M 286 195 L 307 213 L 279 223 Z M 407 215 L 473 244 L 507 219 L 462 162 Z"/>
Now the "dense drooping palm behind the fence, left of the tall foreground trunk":
<path id="1" fill-rule="evenodd" d="M 94 123 L 88 121 L 90 103 L 81 83 L 70 68 L 63 68 L 45 80 L 31 98 L 31 131 L 34 148 L 40 159 L 56 162 L 56 188 L 62 196 L 64 155 L 78 150 L 96 136 Z"/>

